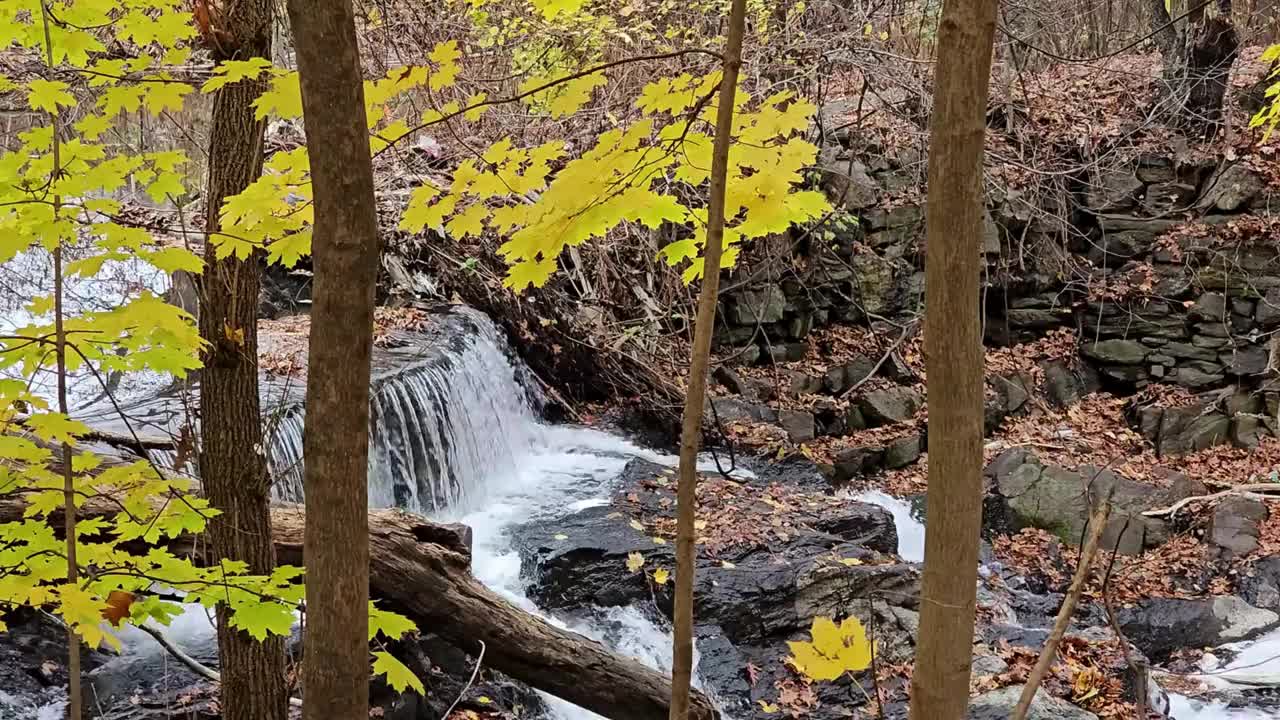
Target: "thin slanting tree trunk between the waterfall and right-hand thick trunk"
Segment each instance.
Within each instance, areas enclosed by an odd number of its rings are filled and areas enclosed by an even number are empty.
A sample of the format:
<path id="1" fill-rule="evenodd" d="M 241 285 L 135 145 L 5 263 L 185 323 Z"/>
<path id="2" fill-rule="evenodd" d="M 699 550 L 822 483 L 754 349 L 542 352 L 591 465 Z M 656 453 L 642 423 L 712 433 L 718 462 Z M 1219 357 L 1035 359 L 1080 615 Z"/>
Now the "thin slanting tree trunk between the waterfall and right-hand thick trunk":
<path id="1" fill-rule="evenodd" d="M 733 97 L 742 65 L 746 0 L 733 0 L 724 41 L 716 143 L 712 147 L 712 187 L 707 208 L 707 246 L 703 249 L 703 288 L 698 296 L 694 347 L 689 361 L 689 392 L 680 430 L 680 484 L 676 515 L 676 607 L 671 662 L 671 720 L 689 717 L 689 691 L 694 676 L 694 519 L 698 511 L 698 448 L 707 401 L 707 366 L 719 296 L 721 251 L 724 240 L 724 192 L 728 182 L 728 147 L 733 132 Z"/>

